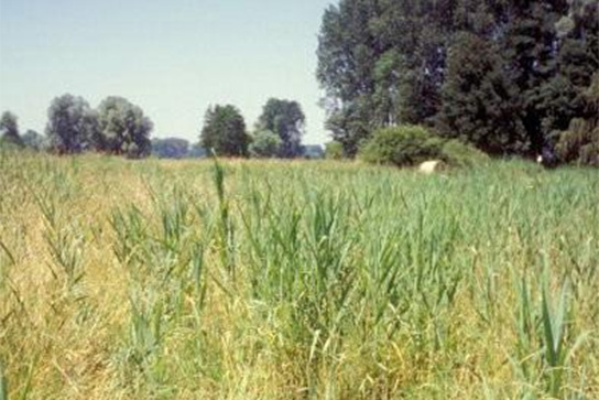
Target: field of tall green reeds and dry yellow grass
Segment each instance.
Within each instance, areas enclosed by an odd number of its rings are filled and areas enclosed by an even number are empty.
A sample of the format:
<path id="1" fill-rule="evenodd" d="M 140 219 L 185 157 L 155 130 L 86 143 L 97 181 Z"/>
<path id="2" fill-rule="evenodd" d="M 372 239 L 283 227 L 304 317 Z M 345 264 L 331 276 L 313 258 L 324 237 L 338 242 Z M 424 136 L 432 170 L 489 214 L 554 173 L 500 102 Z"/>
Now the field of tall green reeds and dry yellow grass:
<path id="1" fill-rule="evenodd" d="M 0 154 L 0 399 L 597 399 L 599 173 Z"/>

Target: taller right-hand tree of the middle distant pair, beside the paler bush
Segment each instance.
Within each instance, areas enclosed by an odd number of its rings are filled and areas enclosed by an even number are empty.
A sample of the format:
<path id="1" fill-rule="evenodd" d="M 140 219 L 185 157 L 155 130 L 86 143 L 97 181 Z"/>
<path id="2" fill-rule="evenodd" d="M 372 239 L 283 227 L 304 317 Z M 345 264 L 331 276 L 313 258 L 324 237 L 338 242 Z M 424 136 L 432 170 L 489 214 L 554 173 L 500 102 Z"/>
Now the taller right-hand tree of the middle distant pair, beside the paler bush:
<path id="1" fill-rule="evenodd" d="M 302 155 L 302 136 L 306 117 L 297 101 L 271 98 L 264 105 L 259 118 L 259 131 L 271 131 L 281 138 L 279 155 L 294 158 Z"/>

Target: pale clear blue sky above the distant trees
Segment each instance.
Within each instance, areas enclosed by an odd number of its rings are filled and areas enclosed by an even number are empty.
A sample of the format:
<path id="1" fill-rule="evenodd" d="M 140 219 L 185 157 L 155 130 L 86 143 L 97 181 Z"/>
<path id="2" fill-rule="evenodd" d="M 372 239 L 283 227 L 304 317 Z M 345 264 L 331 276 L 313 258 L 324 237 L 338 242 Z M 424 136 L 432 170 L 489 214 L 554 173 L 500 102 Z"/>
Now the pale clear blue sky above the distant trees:
<path id="1" fill-rule="evenodd" d="M 43 132 L 65 93 L 92 107 L 123 96 L 154 137 L 197 141 L 206 108 L 233 104 L 249 128 L 269 97 L 301 102 L 305 143 L 328 140 L 315 78 L 330 0 L 0 0 L 0 111 Z"/>

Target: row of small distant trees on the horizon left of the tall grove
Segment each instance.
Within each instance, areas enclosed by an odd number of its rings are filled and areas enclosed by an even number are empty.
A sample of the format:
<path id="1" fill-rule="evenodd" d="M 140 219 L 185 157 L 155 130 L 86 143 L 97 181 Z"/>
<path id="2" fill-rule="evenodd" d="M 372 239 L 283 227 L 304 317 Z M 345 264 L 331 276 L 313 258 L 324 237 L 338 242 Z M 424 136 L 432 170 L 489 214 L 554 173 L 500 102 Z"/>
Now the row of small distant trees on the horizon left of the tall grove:
<path id="1" fill-rule="evenodd" d="M 0 118 L 0 141 L 57 154 L 96 151 L 127 158 L 221 156 L 319 158 L 322 149 L 302 145 L 306 118 L 297 101 L 271 98 L 253 132 L 248 132 L 240 110 L 232 105 L 208 108 L 199 141 L 151 139 L 153 123 L 143 110 L 122 97 L 108 97 L 94 109 L 69 94 L 56 97 L 47 111 L 45 136 L 19 132 L 18 118 L 6 111 Z"/>

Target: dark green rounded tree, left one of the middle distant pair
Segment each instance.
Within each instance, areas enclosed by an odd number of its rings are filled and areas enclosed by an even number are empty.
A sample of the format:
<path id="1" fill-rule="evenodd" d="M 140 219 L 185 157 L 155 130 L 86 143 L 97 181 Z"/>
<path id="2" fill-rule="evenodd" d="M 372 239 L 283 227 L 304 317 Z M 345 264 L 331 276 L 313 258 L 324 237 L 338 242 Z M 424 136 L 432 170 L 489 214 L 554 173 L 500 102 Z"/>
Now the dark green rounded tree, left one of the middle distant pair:
<path id="1" fill-rule="evenodd" d="M 209 107 L 200 134 L 202 147 L 217 155 L 247 156 L 250 137 L 241 112 L 231 105 Z"/>

